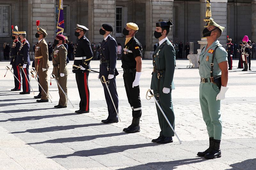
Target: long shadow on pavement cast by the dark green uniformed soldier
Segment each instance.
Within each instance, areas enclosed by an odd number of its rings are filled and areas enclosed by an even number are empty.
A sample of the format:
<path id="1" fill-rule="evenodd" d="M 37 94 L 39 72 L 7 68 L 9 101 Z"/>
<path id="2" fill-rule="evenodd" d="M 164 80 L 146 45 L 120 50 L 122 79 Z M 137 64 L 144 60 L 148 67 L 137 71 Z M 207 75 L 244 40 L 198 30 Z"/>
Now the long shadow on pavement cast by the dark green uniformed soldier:
<path id="1" fill-rule="evenodd" d="M 96 148 L 96 149 L 91 149 L 91 150 L 83 150 L 83 151 L 76 151 L 72 154 L 67 154 L 67 155 L 56 155 L 52 157 L 47 157 L 47 158 L 68 158 L 71 156 L 97 156 L 97 155 L 106 155 L 110 153 L 116 153 L 116 152 L 123 152 L 128 149 L 137 149 L 137 148 L 142 148 L 142 147 L 148 147 L 148 146 L 155 146 L 155 145 L 161 145 L 157 143 L 146 143 L 146 144 L 136 144 L 136 145 L 121 145 L 121 146 L 109 146 L 109 147 L 104 147 L 104 148 Z"/>

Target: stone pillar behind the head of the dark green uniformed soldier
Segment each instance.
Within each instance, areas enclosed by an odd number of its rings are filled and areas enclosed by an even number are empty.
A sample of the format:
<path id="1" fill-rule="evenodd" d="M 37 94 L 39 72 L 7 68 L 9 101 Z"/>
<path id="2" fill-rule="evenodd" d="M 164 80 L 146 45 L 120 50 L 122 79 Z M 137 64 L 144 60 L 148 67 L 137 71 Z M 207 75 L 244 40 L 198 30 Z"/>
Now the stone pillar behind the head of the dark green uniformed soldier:
<path id="1" fill-rule="evenodd" d="M 146 0 L 146 49 L 144 58 L 151 59 L 154 49 L 155 42 L 158 39 L 154 37 L 154 31 L 156 28 L 156 22 L 159 19 L 167 21 L 170 19 L 172 21 L 172 10 L 173 10 L 173 0 Z M 173 31 L 168 34 L 168 39 L 172 40 Z"/>

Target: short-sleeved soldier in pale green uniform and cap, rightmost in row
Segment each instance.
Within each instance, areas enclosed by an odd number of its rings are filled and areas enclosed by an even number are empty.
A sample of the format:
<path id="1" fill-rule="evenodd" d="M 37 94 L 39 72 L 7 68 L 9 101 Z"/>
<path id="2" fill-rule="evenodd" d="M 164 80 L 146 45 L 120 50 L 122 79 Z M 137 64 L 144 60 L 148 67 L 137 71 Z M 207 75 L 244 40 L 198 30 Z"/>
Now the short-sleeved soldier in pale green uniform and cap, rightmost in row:
<path id="1" fill-rule="evenodd" d="M 197 156 L 206 159 L 221 157 L 220 140 L 222 134 L 222 120 L 220 100 L 225 99 L 228 83 L 228 53 L 217 40 L 225 27 L 215 23 L 212 19 L 204 28 L 203 37 L 207 45 L 203 47 L 199 56 L 199 101 L 204 122 L 209 136 L 209 148 L 198 152 Z"/>

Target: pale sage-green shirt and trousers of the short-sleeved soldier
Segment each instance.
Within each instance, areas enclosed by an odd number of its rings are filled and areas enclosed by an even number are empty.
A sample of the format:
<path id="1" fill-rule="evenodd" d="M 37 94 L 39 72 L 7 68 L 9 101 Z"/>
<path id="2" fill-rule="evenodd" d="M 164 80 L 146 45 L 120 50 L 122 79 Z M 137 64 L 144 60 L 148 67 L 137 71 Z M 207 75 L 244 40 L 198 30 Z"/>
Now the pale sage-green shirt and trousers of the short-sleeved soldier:
<path id="1" fill-rule="evenodd" d="M 207 45 L 206 45 L 207 46 Z M 199 99 L 201 110 L 203 113 L 204 122 L 207 126 L 207 131 L 209 138 L 214 138 L 221 140 L 222 133 L 222 121 L 220 115 L 220 100 L 216 101 L 216 96 L 220 93 L 220 89 L 215 83 L 210 82 L 210 71 L 212 54 L 216 46 L 213 62 L 213 77 L 218 77 L 221 75 L 221 70 L 219 63 L 223 61 L 228 61 L 228 53 L 225 48 L 221 47 L 218 40 L 214 41 L 211 46 L 207 49 L 204 46 L 199 57 L 199 74 L 201 78 L 207 79 L 207 82 L 203 83 L 201 81 L 199 87 Z"/>

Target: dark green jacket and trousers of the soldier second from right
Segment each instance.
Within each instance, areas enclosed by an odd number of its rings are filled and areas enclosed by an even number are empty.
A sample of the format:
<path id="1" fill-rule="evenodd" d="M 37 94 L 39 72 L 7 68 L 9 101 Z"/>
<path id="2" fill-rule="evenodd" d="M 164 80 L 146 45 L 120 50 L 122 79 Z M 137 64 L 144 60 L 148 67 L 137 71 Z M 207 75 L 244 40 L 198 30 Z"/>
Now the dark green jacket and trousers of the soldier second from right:
<path id="1" fill-rule="evenodd" d="M 156 51 L 153 54 L 153 66 L 154 71 L 152 72 L 151 86 L 154 95 L 159 93 L 159 97 L 156 99 L 159 105 L 162 107 L 166 117 L 173 125 L 174 129 L 174 111 L 172 107 L 172 90 L 175 89 L 173 83 L 173 75 L 175 69 L 175 50 L 172 46 L 172 43 L 166 39 L 160 46 L 156 48 Z M 159 73 L 159 79 L 157 77 Z M 159 81 L 159 82 L 158 82 Z M 159 83 L 159 84 L 158 84 Z M 163 93 L 163 88 L 170 88 L 170 93 Z M 159 91 L 158 91 L 159 90 Z M 171 127 L 168 125 L 165 120 L 162 112 L 156 105 L 158 121 L 161 128 L 160 135 L 161 137 L 172 137 L 174 132 Z"/>

